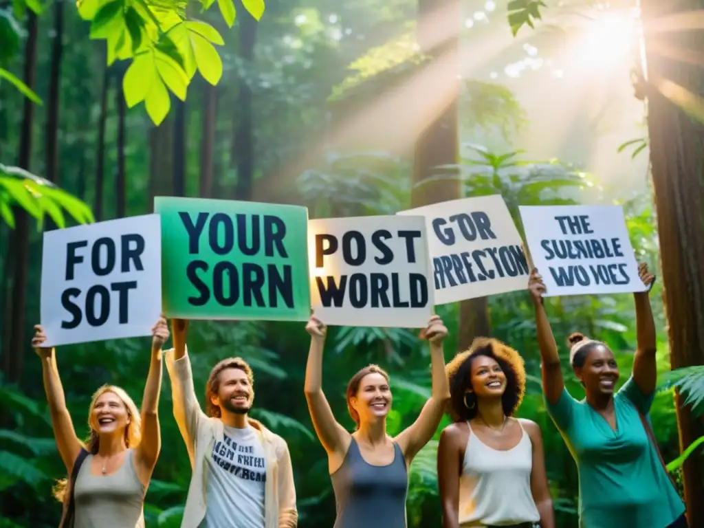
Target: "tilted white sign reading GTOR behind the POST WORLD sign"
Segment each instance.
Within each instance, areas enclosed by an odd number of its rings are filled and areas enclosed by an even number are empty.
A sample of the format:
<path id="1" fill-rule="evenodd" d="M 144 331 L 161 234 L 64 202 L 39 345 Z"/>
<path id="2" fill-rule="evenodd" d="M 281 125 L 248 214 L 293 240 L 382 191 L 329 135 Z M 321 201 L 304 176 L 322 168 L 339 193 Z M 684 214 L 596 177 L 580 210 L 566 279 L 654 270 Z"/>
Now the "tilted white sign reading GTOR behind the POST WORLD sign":
<path id="1" fill-rule="evenodd" d="M 397 214 L 425 216 L 436 304 L 526 289 L 529 270 L 521 237 L 500 195 Z"/>

